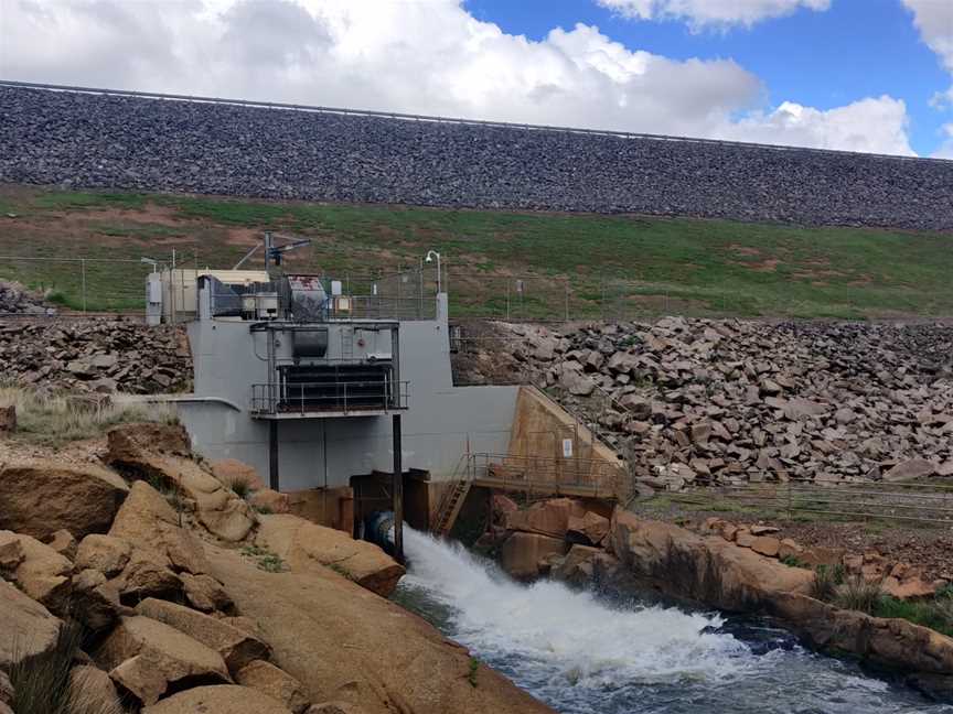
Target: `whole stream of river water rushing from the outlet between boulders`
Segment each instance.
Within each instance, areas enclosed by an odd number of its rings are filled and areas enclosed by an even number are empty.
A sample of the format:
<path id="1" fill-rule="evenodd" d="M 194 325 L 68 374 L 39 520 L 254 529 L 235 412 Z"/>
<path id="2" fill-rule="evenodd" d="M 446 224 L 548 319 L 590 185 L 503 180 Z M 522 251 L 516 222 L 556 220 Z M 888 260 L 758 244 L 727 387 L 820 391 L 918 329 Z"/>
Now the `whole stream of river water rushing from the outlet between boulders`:
<path id="1" fill-rule="evenodd" d="M 523 585 L 405 530 L 396 599 L 564 714 L 953 714 L 751 619 Z"/>

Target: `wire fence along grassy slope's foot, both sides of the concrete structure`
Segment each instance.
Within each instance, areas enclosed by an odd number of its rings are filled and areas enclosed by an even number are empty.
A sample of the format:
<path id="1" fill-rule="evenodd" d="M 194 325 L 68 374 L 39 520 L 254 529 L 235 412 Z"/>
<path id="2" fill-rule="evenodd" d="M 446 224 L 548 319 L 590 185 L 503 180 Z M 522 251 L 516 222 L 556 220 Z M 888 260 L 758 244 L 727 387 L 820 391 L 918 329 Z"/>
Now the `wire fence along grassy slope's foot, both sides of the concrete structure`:
<path id="1" fill-rule="evenodd" d="M 0 280 L 12 280 L 42 292 L 50 303 L 81 313 L 143 313 L 146 277 L 169 269 L 170 260 L 103 257 L 0 255 Z M 197 253 L 184 251 L 176 270 L 199 271 Z M 232 266 L 206 266 L 225 269 Z M 194 281 L 194 273 L 191 280 Z M 751 294 L 715 286 L 689 288 L 657 281 L 608 275 L 513 274 L 420 262 L 376 270 L 312 273 L 326 285 L 338 283 L 341 294 L 365 302 L 393 302 L 401 315 L 432 316 L 438 290 L 449 293 L 456 320 L 492 318 L 511 322 L 641 321 L 667 315 L 686 317 L 833 317 L 896 318 L 953 315 L 953 298 L 922 300 L 909 289 L 877 289 L 876 300 L 863 291 L 846 294 L 816 292 Z M 784 285 L 778 288 L 784 291 Z M 184 313 L 194 313 L 184 310 Z"/>

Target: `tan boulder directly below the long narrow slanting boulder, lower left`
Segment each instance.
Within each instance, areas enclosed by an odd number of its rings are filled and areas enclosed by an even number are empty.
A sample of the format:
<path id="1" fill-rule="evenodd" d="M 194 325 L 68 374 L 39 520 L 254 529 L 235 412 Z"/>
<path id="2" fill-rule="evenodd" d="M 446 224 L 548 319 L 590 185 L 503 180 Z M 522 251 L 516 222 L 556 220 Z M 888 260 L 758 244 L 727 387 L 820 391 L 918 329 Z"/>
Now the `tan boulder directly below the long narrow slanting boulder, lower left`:
<path id="1" fill-rule="evenodd" d="M 222 656 L 149 617 L 124 617 L 96 650 L 97 663 L 142 704 L 154 704 L 178 682 L 231 682 Z M 211 710 L 228 711 L 228 710 Z"/>

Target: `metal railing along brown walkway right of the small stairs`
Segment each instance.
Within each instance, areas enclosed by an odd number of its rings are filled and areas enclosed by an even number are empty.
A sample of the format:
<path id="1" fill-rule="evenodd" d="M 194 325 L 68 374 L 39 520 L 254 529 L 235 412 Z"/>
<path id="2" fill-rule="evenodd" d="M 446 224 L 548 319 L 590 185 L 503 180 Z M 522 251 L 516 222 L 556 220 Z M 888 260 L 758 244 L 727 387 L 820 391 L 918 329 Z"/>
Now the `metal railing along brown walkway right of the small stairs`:
<path id="1" fill-rule="evenodd" d="M 624 468 L 597 458 L 470 454 L 467 476 L 504 490 L 564 493 L 623 502 L 633 493 Z"/>

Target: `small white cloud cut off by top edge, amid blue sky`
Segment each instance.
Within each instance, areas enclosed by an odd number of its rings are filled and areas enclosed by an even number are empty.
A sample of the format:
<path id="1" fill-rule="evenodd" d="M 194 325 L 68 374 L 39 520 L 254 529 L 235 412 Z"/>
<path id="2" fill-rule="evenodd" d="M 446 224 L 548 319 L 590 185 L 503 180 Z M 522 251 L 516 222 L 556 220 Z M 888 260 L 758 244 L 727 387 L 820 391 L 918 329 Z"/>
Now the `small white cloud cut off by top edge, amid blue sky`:
<path id="1" fill-rule="evenodd" d="M 596 0 L 603 8 L 638 20 L 687 20 L 705 26 L 745 25 L 792 14 L 801 8 L 827 10 L 831 0 Z"/>

